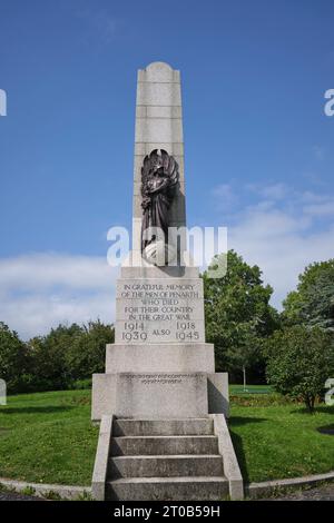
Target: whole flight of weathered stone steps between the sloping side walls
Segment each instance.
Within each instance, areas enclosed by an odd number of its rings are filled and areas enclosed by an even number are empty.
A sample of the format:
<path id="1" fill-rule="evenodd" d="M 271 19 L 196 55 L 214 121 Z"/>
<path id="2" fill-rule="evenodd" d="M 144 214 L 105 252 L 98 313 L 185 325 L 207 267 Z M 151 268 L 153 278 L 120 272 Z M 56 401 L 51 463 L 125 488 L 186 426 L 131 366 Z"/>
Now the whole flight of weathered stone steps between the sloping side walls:
<path id="1" fill-rule="evenodd" d="M 107 500 L 213 501 L 227 495 L 213 420 L 114 421 Z"/>

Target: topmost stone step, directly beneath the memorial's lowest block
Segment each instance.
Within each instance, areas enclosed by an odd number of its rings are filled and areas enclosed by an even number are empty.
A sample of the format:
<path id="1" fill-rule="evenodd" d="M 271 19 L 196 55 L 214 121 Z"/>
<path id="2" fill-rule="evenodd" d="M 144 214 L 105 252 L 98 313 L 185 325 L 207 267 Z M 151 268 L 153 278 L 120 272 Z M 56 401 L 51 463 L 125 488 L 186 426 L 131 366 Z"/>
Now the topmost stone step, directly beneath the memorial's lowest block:
<path id="1" fill-rule="evenodd" d="M 212 435 L 213 421 L 205 417 L 189 420 L 115 420 L 114 436 L 195 436 Z"/>

